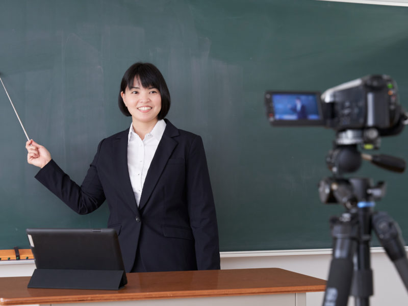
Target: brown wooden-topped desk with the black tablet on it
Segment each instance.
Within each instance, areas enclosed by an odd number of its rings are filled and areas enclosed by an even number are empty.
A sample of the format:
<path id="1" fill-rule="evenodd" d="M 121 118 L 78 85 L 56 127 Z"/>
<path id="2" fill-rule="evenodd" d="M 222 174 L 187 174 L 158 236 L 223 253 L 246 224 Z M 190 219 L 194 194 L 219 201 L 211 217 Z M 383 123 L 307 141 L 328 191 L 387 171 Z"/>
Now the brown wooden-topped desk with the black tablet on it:
<path id="1" fill-rule="evenodd" d="M 278 268 L 128 273 L 120 290 L 27 288 L 30 277 L 0 277 L 0 305 L 234 305 L 304 306 L 306 292 L 325 281 Z M 118 303 L 120 301 L 120 303 Z M 78 304 L 80 303 L 80 304 Z M 72 305 L 71 305 L 72 306 Z"/>

